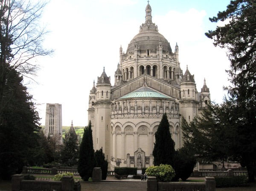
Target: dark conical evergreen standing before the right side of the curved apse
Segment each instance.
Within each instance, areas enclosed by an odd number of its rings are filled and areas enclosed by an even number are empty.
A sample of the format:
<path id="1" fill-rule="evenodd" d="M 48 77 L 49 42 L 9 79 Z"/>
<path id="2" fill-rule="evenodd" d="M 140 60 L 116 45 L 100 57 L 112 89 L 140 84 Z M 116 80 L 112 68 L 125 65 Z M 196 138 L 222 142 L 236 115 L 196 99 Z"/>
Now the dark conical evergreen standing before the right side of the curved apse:
<path id="1" fill-rule="evenodd" d="M 175 142 L 172 140 L 169 126 L 169 121 L 165 113 L 155 133 L 156 142 L 154 143 L 153 149 L 154 165 L 167 164 L 174 166 Z"/>

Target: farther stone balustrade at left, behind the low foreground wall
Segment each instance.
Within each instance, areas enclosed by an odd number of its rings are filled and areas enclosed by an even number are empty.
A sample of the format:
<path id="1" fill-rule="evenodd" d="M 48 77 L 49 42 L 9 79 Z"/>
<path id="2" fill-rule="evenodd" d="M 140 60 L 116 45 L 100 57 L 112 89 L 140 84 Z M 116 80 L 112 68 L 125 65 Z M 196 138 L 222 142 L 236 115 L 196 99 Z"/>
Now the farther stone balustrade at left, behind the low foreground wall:
<path id="1" fill-rule="evenodd" d="M 45 168 L 45 169 L 38 169 L 38 168 L 29 168 L 23 167 L 22 174 L 62 174 L 66 172 L 71 172 L 74 175 L 79 175 L 77 169 L 57 169 L 57 168 Z"/>

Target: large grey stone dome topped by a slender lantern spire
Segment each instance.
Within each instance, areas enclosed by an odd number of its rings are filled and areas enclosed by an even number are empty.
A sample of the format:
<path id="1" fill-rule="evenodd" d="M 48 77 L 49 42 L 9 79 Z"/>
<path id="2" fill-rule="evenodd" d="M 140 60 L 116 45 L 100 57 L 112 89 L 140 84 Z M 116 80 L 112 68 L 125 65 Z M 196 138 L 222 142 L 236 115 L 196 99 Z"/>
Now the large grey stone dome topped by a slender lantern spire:
<path id="1" fill-rule="evenodd" d="M 158 32 L 157 25 L 152 23 L 151 6 L 149 4 L 146 6 L 145 11 L 145 23 L 140 26 L 140 32 L 128 44 L 126 54 L 129 52 L 132 54 L 135 46 L 143 52 L 148 49 L 151 52 L 156 52 L 160 44 L 162 45 L 163 52 L 169 52 L 171 54 L 172 49 L 170 43 Z"/>

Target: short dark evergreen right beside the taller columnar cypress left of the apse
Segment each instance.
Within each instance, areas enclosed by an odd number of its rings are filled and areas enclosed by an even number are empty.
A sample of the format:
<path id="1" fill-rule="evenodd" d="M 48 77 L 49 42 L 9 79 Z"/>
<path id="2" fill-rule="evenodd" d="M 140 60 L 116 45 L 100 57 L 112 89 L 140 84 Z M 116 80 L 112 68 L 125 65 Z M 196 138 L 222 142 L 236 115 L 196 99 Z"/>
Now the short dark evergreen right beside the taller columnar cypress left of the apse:
<path id="1" fill-rule="evenodd" d="M 103 153 L 102 148 L 96 150 L 95 152 L 96 167 L 102 169 L 102 179 L 105 180 L 108 174 L 108 160 L 105 159 L 105 153 Z"/>

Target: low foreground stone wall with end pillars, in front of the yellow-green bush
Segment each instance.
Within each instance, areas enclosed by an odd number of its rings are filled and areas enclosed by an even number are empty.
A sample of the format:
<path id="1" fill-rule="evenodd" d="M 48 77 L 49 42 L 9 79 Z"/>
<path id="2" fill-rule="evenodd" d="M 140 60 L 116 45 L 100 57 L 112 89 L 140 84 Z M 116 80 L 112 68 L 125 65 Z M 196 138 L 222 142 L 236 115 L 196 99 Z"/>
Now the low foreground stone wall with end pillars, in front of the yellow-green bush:
<path id="1" fill-rule="evenodd" d="M 215 191 L 214 177 L 205 177 L 205 182 L 157 182 L 156 177 L 148 177 L 147 191 Z"/>

